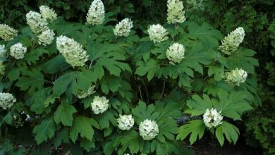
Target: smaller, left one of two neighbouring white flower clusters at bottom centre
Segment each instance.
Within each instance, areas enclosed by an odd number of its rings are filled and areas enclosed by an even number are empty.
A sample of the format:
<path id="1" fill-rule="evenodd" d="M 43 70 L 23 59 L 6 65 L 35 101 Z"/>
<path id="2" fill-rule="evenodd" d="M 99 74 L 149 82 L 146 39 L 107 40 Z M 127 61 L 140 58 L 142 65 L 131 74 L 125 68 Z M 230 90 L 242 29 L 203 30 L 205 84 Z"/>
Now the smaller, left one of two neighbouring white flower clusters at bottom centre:
<path id="1" fill-rule="evenodd" d="M 118 128 L 120 130 L 130 130 L 130 128 L 133 128 L 135 124 L 135 120 L 132 117 L 132 115 L 119 114 L 119 118 L 117 119 L 117 122 L 118 122 Z"/>

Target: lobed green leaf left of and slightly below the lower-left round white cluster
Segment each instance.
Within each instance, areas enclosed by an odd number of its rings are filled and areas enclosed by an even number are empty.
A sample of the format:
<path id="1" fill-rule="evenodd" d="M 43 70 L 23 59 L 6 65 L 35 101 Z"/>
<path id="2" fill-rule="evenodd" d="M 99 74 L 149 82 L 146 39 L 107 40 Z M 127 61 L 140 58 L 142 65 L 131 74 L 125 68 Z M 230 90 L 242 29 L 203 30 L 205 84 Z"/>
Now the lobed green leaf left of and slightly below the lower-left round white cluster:
<path id="1" fill-rule="evenodd" d="M 61 101 L 61 104 L 54 113 L 54 120 L 56 121 L 56 124 L 62 122 L 63 125 L 71 126 L 73 125 L 73 113 L 75 112 L 75 107 Z"/>

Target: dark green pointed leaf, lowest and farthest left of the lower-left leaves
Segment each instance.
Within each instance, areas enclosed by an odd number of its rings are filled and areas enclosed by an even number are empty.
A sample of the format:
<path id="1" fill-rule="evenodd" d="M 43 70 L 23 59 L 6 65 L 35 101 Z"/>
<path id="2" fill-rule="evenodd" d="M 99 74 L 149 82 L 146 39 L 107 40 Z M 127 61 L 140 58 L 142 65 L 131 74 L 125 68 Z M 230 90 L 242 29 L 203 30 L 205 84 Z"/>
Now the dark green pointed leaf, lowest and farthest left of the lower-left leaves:
<path id="1" fill-rule="evenodd" d="M 42 123 L 36 125 L 33 129 L 37 144 L 41 144 L 42 142 L 46 142 L 48 139 L 51 139 L 51 137 L 54 136 L 55 130 L 56 124 L 54 123 L 54 117 L 44 118 Z"/>

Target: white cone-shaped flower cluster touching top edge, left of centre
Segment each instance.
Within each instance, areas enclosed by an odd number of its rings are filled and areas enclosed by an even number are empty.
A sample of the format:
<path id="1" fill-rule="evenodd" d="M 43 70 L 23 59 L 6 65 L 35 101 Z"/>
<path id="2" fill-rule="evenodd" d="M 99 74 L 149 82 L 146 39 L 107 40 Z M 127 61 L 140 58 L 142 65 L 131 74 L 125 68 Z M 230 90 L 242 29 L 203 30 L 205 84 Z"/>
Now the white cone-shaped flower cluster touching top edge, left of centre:
<path id="1" fill-rule="evenodd" d="M 105 18 L 104 4 L 101 0 L 94 0 L 87 13 L 87 23 L 92 25 L 102 24 Z"/>

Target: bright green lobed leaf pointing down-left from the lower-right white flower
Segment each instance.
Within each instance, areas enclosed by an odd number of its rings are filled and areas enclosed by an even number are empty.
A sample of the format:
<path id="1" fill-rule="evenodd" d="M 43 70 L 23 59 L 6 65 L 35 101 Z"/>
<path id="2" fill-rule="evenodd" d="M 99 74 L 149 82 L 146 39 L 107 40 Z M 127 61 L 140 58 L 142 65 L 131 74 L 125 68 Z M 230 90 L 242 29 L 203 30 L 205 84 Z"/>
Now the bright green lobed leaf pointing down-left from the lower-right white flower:
<path id="1" fill-rule="evenodd" d="M 178 130 L 176 140 L 184 140 L 190 134 L 190 144 L 193 144 L 197 138 L 200 140 L 204 135 L 205 125 L 202 120 L 191 120 L 188 124 L 182 125 Z"/>

